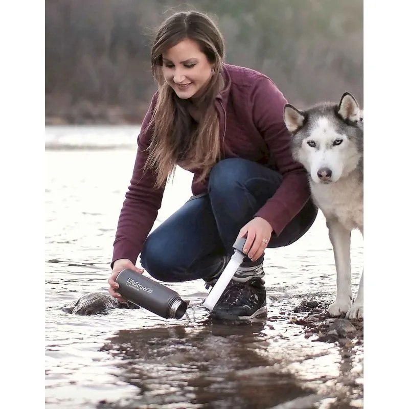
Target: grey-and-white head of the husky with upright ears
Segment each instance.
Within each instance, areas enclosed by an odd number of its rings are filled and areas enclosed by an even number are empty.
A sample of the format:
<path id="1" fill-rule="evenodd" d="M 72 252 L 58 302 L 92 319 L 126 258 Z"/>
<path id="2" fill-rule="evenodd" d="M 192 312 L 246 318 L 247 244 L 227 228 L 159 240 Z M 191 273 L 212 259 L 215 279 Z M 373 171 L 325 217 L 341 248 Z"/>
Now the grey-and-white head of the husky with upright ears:
<path id="1" fill-rule="evenodd" d="M 363 111 L 353 95 L 344 93 L 338 104 L 306 110 L 286 104 L 283 115 L 292 135 L 292 155 L 315 183 L 335 182 L 361 165 Z"/>

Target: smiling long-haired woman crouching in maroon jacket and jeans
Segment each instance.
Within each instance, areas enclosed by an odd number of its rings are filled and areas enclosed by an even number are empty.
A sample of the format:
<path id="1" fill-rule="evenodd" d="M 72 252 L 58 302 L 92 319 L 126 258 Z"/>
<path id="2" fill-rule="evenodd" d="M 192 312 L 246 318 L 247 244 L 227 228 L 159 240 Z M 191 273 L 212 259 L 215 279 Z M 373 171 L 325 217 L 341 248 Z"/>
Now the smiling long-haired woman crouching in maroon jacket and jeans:
<path id="1" fill-rule="evenodd" d="M 119 301 L 115 279 L 124 268 L 143 272 L 135 267 L 140 253 L 152 277 L 203 279 L 210 288 L 236 238 L 246 237 L 246 257 L 212 315 L 265 315 L 265 248 L 293 243 L 315 220 L 306 171 L 291 156 L 287 101 L 268 77 L 223 63 L 223 55 L 221 33 L 201 13 L 176 13 L 158 30 L 151 53 L 158 90 L 113 243 L 109 292 Z M 176 165 L 194 173 L 193 196 L 149 234 Z"/>

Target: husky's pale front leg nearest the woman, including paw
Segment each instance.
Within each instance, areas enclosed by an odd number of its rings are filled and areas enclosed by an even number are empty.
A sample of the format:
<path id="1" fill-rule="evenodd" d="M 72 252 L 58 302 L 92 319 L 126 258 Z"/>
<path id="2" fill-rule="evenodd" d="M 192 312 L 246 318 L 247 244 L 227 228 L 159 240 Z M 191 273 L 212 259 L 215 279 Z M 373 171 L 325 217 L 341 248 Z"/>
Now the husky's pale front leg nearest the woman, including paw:
<path id="1" fill-rule="evenodd" d="M 352 304 L 351 290 L 351 231 L 337 220 L 327 220 L 336 269 L 336 298 L 328 308 L 331 316 L 346 313 Z"/>

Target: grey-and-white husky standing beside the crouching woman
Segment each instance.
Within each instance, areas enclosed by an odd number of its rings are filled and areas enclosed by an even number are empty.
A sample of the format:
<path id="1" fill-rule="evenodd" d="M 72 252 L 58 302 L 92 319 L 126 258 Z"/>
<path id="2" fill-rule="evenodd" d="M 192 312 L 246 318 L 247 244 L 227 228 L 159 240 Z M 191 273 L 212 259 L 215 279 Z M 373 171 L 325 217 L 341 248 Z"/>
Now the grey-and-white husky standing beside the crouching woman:
<path id="1" fill-rule="evenodd" d="M 351 231 L 363 236 L 363 112 L 344 93 L 338 104 L 321 103 L 306 110 L 284 106 L 292 135 L 292 154 L 308 171 L 311 195 L 323 212 L 336 269 L 336 298 L 331 316 L 363 318 L 363 271 L 352 302 Z"/>

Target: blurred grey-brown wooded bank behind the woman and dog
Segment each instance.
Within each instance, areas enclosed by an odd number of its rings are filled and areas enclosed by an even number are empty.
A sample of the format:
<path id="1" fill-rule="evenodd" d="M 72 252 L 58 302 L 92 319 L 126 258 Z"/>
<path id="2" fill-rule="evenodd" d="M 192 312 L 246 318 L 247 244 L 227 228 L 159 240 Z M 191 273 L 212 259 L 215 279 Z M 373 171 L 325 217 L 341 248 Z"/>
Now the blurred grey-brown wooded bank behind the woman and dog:
<path id="1" fill-rule="evenodd" d="M 46 124 L 138 124 L 156 83 L 150 44 L 176 11 L 212 16 L 225 61 L 268 75 L 292 104 L 363 106 L 363 0 L 46 0 Z"/>

